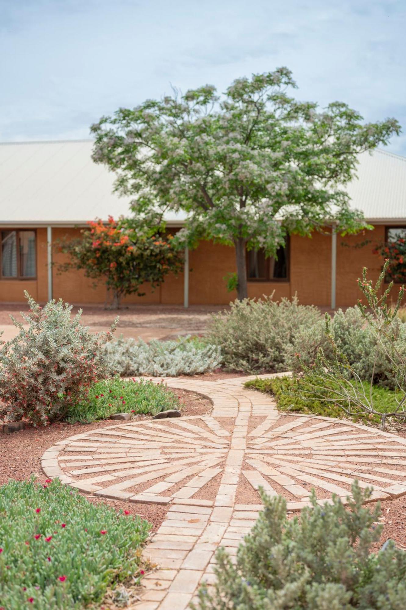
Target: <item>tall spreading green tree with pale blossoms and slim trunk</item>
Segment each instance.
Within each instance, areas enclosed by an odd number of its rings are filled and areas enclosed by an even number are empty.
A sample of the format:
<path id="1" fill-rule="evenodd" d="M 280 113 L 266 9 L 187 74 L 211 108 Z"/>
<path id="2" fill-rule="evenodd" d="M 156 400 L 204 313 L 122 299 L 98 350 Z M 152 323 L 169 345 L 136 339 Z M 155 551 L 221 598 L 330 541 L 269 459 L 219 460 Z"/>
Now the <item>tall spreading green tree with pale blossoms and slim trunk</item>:
<path id="1" fill-rule="evenodd" d="M 357 154 L 399 134 L 396 120 L 361 124 L 342 102 L 318 110 L 287 93 L 287 68 L 240 78 L 218 96 L 206 85 L 161 101 L 119 109 L 91 127 L 93 160 L 118 173 L 136 217 L 159 222 L 184 210 L 177 243 L 235 246 L 238 298 L 247 296 L 246 249 L 275 256 L 288 233 L 310 235 L 334 222 L 341 233 L 365 227 L 344 185 Z"/>

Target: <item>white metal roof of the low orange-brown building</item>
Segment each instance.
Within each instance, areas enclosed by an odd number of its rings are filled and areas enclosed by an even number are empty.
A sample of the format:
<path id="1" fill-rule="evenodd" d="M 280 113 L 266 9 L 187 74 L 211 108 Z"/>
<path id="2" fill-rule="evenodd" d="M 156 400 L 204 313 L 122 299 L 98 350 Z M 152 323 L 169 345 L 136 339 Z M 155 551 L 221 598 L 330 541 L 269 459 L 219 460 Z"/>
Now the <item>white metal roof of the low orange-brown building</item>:
<path id="1" fill-rule="evenodd" d="M 0 143 L 0 225 L 74 225 L 129 212 L 113 193 L 115 174 L 91 160 L 92 140 Z M 348 185 L 368 220 L 406 221 L 406 159 L 376 150 L 360 155 Z M 181 224 L 173 214 L 169 224 Z"/>

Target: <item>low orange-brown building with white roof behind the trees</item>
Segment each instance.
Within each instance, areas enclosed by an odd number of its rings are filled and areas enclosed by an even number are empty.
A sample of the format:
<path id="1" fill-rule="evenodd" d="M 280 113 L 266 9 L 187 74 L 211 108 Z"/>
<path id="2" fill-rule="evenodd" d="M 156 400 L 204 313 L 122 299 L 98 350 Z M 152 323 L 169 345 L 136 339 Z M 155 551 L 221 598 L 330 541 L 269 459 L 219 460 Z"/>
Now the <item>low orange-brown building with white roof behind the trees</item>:
<path id="1" fill-rule="evenodd" d="M 4 143 L 0 145 L 0 301 L 24 301 L 28 290 L 37 301 L 51 296 L 74 304 L 104 303 L 105 287 L 94 288 L 78 271 L 57 274 L 49 265 L 51 242 L 76 235 L 88 220 L 127 214 L 129 201 L 113 191 L 114 175 L 91 161 L 90 140 Z M 382 259 L 372 254 L 398 232 L 406 236 L 406 159 L 386 151 L 360 155 L 358 179 L 348 186 L 352 206 L 363 210 L 373 231 L 349 237 L 315 233 L 290 237 L 279 260 L 248 254 L 249 296 L 295 293 L 303 304 L 353 305 L 363 266 L 377 278 Z M 168 218 L 182 226 L 182 218 Z M 363 242 L 369 243 L 362 247 Z M 55 254 L 54 262 L 64 255 Z M 202 242 L 186 257 L 184 274 L 168 276 L 155 292 L 132 295 L 127 303 L 227 304 L 224 276 L 235 271 L 233 248 Z"/>

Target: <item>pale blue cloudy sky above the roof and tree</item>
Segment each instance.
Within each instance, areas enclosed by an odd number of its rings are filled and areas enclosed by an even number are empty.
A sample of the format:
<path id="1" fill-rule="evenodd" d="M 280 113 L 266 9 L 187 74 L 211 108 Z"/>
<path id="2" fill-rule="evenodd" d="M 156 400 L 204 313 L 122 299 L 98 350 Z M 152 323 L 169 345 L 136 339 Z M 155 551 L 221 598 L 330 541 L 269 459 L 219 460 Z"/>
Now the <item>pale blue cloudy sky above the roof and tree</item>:
<path id="1" fill-rule="evenodd" d="M 119 107 L 287 66 L 294 95 L 395 117 L 404 0 L 0 0 L 0 141 L 89 138 Z"/>

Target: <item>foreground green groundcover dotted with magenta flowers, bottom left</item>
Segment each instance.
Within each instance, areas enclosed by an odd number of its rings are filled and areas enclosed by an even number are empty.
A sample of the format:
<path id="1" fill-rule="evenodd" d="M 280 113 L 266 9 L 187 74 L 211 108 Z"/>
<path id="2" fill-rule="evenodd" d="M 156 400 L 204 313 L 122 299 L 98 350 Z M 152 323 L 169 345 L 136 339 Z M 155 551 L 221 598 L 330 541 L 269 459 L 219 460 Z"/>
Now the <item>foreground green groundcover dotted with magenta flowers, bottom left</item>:
<path id="1" fill-rule="evenodd" d="M 58 480 L 0 487 L 0 607 L 81 609 L 107 587 L 140 576 L 150 525 L 91 504 Z"/>

